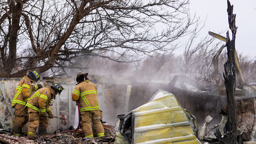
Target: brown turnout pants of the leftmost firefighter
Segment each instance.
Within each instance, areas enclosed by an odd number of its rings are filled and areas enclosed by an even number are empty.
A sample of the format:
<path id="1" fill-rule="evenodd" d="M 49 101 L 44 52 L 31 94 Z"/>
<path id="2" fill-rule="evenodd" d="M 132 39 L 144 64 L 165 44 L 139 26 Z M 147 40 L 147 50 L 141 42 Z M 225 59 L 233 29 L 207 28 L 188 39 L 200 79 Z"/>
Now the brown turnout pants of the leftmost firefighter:
<path id="1" fill-rule="evenodd" d="M 15 122 L 13 135 L 21 135 L 23 126 L 29 121 L 27 107 L 19 103 L 15 104 Z"/>

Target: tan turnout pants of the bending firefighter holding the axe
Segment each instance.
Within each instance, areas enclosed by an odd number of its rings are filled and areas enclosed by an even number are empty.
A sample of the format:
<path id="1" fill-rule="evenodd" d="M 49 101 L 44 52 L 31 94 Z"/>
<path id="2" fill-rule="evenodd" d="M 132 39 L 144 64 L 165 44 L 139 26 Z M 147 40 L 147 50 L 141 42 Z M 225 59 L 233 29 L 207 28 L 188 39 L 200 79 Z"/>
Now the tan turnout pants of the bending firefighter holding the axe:
<path id="1" fill-rule="evenodd" d="M 27 133 L 27 137 L 29 139 L 35 138 L 35 133 L 38 127 L 38 134 L 39 135 L 46 135 L 47 134 L 47 126 L 48 126 L 48 119 L 47 117 L 41 117 L 39 112 L 33 110 L 31 108 L 27 108 L 29 110 L 29 131 Z"/>

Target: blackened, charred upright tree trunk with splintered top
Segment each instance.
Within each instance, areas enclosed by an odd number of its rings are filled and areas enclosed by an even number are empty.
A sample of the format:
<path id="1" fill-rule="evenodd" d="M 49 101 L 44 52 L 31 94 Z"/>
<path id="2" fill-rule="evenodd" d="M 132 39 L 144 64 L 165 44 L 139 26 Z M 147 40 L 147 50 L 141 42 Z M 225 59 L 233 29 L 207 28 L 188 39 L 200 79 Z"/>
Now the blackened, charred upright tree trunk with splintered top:
<path id="1" fill-rule="evenodd" d="M 227 62 L 224 64 L 225 87 L 227 93 L 228 119 L 224 128 L 224 137 L 221 136 L 219 129 L 216 137 L 220 143 L 242 143 L 241 137 L 237 137 L 237 119 L 235 109 L 235 34 L 237 27 L 235 26 L 235 14 L 233 14 L 233 5 L 227 0 L 227 13 L 229 19 L 229 28 L 232 31 L 232 40 L 229 38 L 227 31 Z"/>

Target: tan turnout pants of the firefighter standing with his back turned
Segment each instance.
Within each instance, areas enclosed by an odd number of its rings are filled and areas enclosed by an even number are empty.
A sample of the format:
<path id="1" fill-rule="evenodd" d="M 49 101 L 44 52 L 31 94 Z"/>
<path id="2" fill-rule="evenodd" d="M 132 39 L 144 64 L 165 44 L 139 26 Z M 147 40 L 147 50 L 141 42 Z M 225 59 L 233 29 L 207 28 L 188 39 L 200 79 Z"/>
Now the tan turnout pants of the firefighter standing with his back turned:
<path id="1" fill-rule="evenodd" d="M 91 123 L 93 123 L 93 128 L 96 132 L 97 137 L 105 136 L 104 129 L 100 121 L 101 114 L 99 110 L 82 111 L 80 112 L 80 114 L 81 114 L 82 128 L 85 133 L 85 137 L 93 138 Z"/>

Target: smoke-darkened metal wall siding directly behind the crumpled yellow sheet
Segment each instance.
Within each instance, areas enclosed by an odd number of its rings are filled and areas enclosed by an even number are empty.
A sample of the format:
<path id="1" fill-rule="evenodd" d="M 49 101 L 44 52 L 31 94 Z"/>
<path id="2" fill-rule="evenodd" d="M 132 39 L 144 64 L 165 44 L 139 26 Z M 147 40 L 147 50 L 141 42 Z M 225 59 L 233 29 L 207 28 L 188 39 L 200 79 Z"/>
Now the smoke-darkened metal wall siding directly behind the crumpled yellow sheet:
<path id="1" fill-rule="evenodd" d="M 208 115 L 214 117 L 214 123 L 218 123 L 221 120 L 220 109 L 227 104 L 226 97 L 182 90 L 160 83 L 134 82 L 131 86 L 128 109 L 131 111 L 147 103 L 158 89 L 174 94 L 179 103 L 197 118 L 198 125 L 202 125 Z"/>

